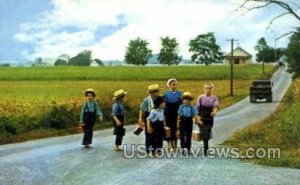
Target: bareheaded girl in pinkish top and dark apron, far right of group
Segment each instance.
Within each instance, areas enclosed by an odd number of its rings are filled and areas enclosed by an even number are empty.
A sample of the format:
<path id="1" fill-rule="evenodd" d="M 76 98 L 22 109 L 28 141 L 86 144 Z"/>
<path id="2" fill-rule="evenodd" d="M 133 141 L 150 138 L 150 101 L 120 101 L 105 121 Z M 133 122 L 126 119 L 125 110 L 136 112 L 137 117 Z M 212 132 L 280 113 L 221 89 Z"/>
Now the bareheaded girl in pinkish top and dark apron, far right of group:
<path id="1" fill-rule="evenodd" d="M 200 126 L 201 137 L 204 144 L 204 155 L 207 155 L 208 140 L 211 138 L 211 129 L 214 125 L 214 117 L 219 110 L 219 102 L 216 96 L 212 95 L 213 84 L 204 85 L 205 94 L 200 95 L 197 101 L 199 116 L 203 124 Z"/>

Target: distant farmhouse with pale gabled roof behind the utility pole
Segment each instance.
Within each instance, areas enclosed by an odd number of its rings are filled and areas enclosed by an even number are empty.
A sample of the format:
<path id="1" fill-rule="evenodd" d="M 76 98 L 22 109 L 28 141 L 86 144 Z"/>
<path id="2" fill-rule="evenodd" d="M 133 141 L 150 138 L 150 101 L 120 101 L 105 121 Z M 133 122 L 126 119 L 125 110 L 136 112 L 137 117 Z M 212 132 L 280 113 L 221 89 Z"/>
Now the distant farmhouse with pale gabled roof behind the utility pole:
<path id="1" fill-rule="evenodd" d="M 233 62 L 234 64 L 250 64 L 252 62 L 252 55 L 238 46 L 233 50 Z M 225 55 L 225 63 L 230 64 L 231 52 Z"/>

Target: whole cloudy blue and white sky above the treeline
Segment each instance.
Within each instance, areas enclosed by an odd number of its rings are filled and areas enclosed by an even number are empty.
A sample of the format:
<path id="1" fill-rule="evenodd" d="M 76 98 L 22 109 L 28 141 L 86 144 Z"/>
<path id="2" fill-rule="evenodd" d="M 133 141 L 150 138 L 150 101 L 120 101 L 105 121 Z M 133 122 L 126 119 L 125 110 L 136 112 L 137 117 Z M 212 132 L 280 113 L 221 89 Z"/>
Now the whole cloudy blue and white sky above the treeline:
<path id="1" fill-rule="evenodd" d="M 230 51 L 234 38 L 255 55 L 261 37 L 275 47 L 275 38 L 299 26 L 269 7 L 243 14 L 235 11 L 242 0 L 0 0 L 0 60 L 34 60 L 75 56 L 91 50 L 93 58 L 123 60 L 130 40 L 149 42 L 159 53 L 161 37 L 175 37 L 179 54 L 189 59 L 188 43 L 199 34 L 214 32 L 223 52 Z M 293 0 L 300 6 L 300 2 Z M 251 6 L 251 4 L 249 4 Z M 300 12 L 298 11 L 300 14 Z M 276 41 L 286 47 L 288 37 Z"/>

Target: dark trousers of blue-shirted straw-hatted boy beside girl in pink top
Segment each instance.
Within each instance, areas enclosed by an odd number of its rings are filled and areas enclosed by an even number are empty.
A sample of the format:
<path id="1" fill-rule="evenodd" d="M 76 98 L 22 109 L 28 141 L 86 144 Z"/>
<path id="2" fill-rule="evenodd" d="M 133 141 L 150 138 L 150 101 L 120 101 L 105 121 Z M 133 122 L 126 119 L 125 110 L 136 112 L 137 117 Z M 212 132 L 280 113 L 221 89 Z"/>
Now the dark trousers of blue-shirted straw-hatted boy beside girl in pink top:
<path id="1" fill-rule="evenodd" d="M 181 117 L 179 128 L 181 148 L 187 148 L 190 151 L 192 143 L 193 118 Z"/>

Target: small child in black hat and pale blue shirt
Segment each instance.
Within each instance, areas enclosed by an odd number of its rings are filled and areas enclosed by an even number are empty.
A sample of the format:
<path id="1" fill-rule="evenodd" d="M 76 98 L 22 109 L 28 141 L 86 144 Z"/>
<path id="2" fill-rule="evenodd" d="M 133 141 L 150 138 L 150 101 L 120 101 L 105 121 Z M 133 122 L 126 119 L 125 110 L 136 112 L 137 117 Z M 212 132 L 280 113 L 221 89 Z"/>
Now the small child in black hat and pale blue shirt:
<path id="1" fill-rule="evenodd" d="M 147 118 L 147 127 L 149 134 L 152 134 L 151 145 L 155 154 L 161 153 L 163 147 L 164 130 L 164 108 L 165 102 L 161 96 L 154 100 L 154 109 L 151 110 Z M 151 153 L 150 153 L 151 156 Z"/>

